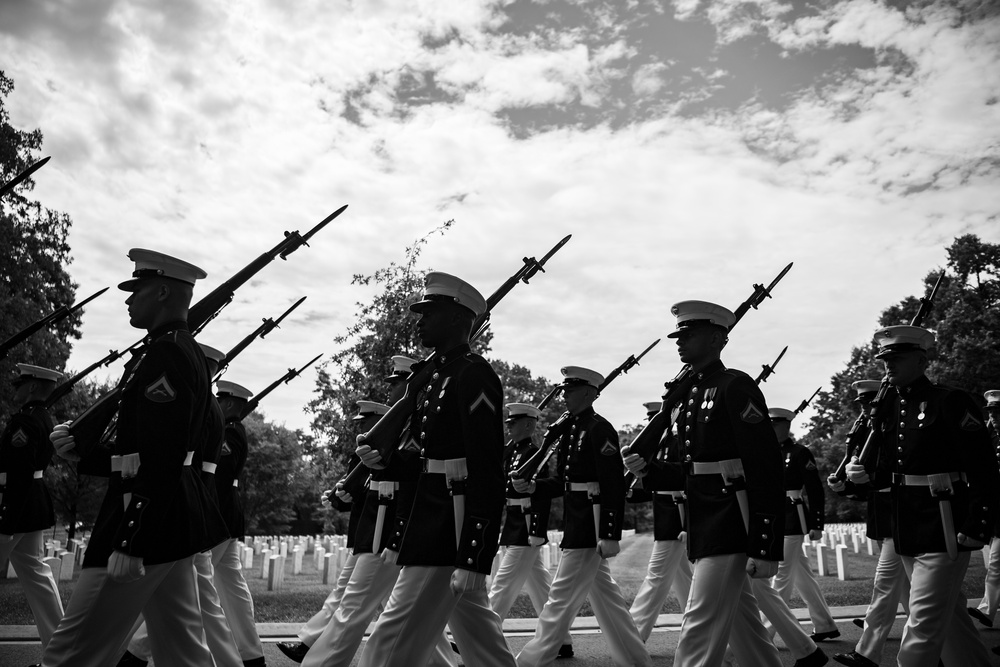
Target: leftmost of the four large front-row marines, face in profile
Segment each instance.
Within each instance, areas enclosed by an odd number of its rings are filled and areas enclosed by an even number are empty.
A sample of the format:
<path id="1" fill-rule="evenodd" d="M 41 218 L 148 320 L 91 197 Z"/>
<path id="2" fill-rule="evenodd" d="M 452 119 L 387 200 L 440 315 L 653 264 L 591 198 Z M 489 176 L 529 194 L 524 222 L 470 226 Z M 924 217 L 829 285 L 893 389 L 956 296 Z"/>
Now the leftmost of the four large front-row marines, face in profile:
<path id="1" fill-rule="evenodd" d="M 42 665 L 106 667 L 140 612 L 153 658 L 211 667 L 204 643 L 193 560 L 211 546 L 203 517 L 211 508 L 192 468 L 213 400 L 204 354 L 188 331 L 195 281 L 205 272 L 183 260 L 133 249 L 130 323 L 148 332 L 121 381 L 117 437 L 95 446 L 81 472 L 111 477 L 69 608 Z M 68 424 L 51 440 L 79 458 Z"/>

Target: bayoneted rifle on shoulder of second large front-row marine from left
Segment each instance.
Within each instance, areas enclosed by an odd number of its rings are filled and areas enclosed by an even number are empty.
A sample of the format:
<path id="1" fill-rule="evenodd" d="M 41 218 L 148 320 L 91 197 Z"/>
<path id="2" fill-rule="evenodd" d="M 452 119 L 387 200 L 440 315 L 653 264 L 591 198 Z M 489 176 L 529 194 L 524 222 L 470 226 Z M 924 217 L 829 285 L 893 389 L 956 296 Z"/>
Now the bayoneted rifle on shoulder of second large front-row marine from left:
<path id="1" fill-rule="evenodd" d="M 539 271 L 544 272 L 545 269 L 542 268 L 549 258 L 554 255 L 559 248 L 566 245 L 572 234 L 567 235 L 563 240 L 559 241 L 552 250 L 550 250 L 541 261 L 536 260 L 534 257 L 525 257 L 524 266 L 518 269 L 514 275 L 504 282 L 500 288 L 490 295 L 490 298 L 486 300 L 486 312 L 476 318 L 476 321 L 472 326 L 472 335 L 469 337 L 469 342 L 471 343 L 476 338 L 478 338 L 489 324 L 490 313 L 493 308 L 505 297 L 507 294 L 517 285 L 518 282 L 524 282 L 525 285 L 528 284 L 528 279 L 533 277 Z M 389 411 L 382 415 L 374 426 L 369 429 L 369 431 L 362 436 L 358 436 L 359 442 L 364 440 L 364 443 L 376 450 L 381 456 L 382 461 L 387 463 L 389 458 L 392 456 L 393 450 L 396 448 L 399 442 L 399 436 L 402 434 L 403 429 L 406 428 L 406 422 L 409 421 L 410 415 L 416 409 L 417 393 L 420 388 L 427 384 L 430 380 L 431 375 L 435 371 L 435 366 L 431 362 L 434 355 L 427 357 L 422 361 L 418 361 L 410 369 L 410 375 L 406 379 L 406 389 L 403 392 L 403 396 L 396 401 Z M 554 394 L 553 394 L 554 395 Z M 344 486 L 356 486 L 368 475 L 368 467 L 363 463 L 359 463 L 354 466 L 354 468 L 347 473 L 347 476 L 341 480 Z"/>

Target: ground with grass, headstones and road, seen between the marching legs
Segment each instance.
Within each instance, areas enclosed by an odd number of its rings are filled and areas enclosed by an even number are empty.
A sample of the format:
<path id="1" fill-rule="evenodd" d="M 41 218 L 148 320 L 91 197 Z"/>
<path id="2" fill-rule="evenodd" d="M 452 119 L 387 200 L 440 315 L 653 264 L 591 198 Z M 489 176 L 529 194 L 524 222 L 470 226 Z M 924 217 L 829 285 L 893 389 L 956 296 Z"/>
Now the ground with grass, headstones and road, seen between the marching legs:
<path id="1" fill-rule="evenodd" d="M 863 534 L 863 526 L 860 527 Z M 834 653 L 850 651 L 854 648 L 860 637 L 861 631 L 856 628 L 851 620 L 864 615 L 865 607 L 871 597 L 872 577 L 877 562 L 877 555 L 869 555 L 865 540 L 859 540 L 858 553 L 853 551 L 853 540 L 851 533 L 856 529 L 855 524 L 830 527 L 830 533 L 826 537 L 828 548 L 824 549 L 823 569 L 826 575 L 819 576 L 820 588 L 831 607 L 834 618 L 837 621 L 841 636 L 835 640 L 821 644 L 822 650 L 828 655 Z M 843 537 L 835 537 L 841 531 Z M 55 539 L 59 539 L 56 536 Z M 64 538 L 64 536 L 62 536 Z M 51 538 L 47 534 L 46 538 Z M 251 540 L 253 538 L 250 538 Z M 268 577 L 262 576 L 264 573 L 263 547 L 266 545 L 264 539 L 287 541 L 288 555 L 285 559 L 273 559 L 275 566 L 283 563 L 280 574 L 277 567 L 270 568 Z M 335 568 L 332 564 L 335 557 L 317 558 L 316 549 L 303 550 L 301 557 L 301 570 L 295 573 L 295 557 L 291 549 L 294 549 L 294 540 L 307 538 L 258 538 L 258 553 L 247 554 L 248 558 L 252 554 L 253 565 L 245 571 L 247 582 L 253 592 L 256 606 L 256 620 L 258 630 L 261 632 L 261 639 L 264 642 L 264 654 L 268 665 L 284 667 L 294 663 L 283 656 L 276 647 L 278 641 L 294 641 L 295 633 L 299 625 L 308 620 L 315 613 L 327 594 L 332 589 L 335 582 Z M 339 552 L 331 543 L 335 538 L 320 537 L 319 544 L 326 544 L 331 547 L 330 551 Z M 846 566 L 845 580 L 841 581 L 837 577 L 837 557 L 834 549 L 829 548 L 830 541 L 845 543 L 845 547 L 840 550 L 841 559 Z M 250 544 L 253 542 L 251 541 Z M 317 542 L 313 538 L 312 544 L 315 547 Z M 280 549 L 280 547 L 275 544 Z M 642 583 L 646 573 L 646 565 L 649 553 L 652 549 L 652 534 L 642 533 L 639 535 L 627 534 L 622 540 L 622 553 L 611 559 L 611 571 L 615 580 L 619 583 L 626 601 L 631 604 L 636 592 Z M 555 551 L 555 549 L 553 549 Z M 280 553 L 280 552 L 279 552 Z M 323 554 L 320 554 L 323 555 Z M 815 549 L 809 550 L 810 562 L 813 571 L 818 568 Z M 65 557 L 66 560 L 72 560 Z M 280 558 L 280 556 L 279 556 Z M 554 556 L 553 558 L 557 558 Z M 267 557 L 270 564 L 272 559 Z M 329 583 L 323 582 L 323 562 L 327 562 L 327 579 Z M 554 561 L 550 563 L 554 569 Z M 6 566 L 3 566 L 6 571 Z M 76 570 L 76 568 L 74 568 Z M 79 575 L 74 571 L 69 579 L 59 581 L 60 592 L 64 603 L 69 600 L 73 586 Z M 974 553 L 971 559 L 969 572 L 966 575 L 963 585 L 963 594 L 968 597 L 973 604 L 978 603 L 983 594 L 983 580 L 985 577 L 985 567 L 983 559 L 979 553 Z M 274 588 L 275 584 L 280 590 L 268 590 L 269 582 Z M 797 595 L 792 597 L 792 605 L 796 611 L 795 615 L 803 623 L 806 632 L 812 629 L 808 620 L 808 614 L 803 609 L 801 599 Z M 653 658 L 653 664 L 662 667 L 669 667 L 673 664 L 673 656 L 677 647 L 677 639 L 680 629 L 679 614 L 680 607 L 672 598 L 668 597 L 662 609 L 662 615 L 657 623 L 657 628 L 653 631 L 646 646 Z M 522 594 L 517 604 L 511 610 L 511 614 L 504 622 L 504 633 L 512 651 L 517 653 L 531 638 L 534 631 L 532 619 L 535 617 L 527 595 Z M 895 664 L 896 651 L 899 648 L 899 637 L 902 633 L 904 619 L 897 617 L 896 623 L 890 633 L 886 643 L 885 652 L 882 656 L 881 664 Z M 975 624 L 980 633 L 980 637 L 987 647 L 992 647 L 1000 643 L 1000 632 L 994 629 L 980 627 Z M 0 665 L 29 665 L 41 657 L 41 646 L 38 642 L 37 633 L 32 625 L 31 613 L 28 610 L 27 602 L 17 585 L 16 579 L 0 578 Z M 585 605 L 580 617 L 573 625 L 573 646 L 576 655 L 571 661 L 564 661 L 567 665 L 575 667 L 606 667 L 609 664 L 609 656 L 604 639 L 597 628 L 595 619 L 589 605 Z M 781 638 L 778 637 L 776 645 L 779 649 L 779 656 L 784 667 L 793 667 L 794 656 L 784 647 Z M 357 664 L 359 655 L 354 657 L 352 667 Z M 1000 659 L 990 654 L 991 664 L 1000 664 Z M 833 665 L 832 661 L 829 663 Z M 155 667 L 153 663 L 150 663 Z"/>

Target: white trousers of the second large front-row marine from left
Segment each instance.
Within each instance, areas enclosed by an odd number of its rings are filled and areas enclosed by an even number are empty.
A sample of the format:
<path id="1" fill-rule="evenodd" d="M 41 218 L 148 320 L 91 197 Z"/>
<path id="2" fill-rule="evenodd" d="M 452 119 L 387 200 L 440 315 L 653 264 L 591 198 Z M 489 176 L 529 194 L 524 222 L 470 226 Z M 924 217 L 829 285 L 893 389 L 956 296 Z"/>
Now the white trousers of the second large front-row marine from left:
<path id="1" fill-rule="evenodd" d="M 412 667 L 427 664 L 445 626 L 467 665 L 513 667 L 500 617 L 489 605 L 486 587 L 455 596 L 453 567 L 406 565 L 396 579 L 385 611 L 361 654 L 359 667 Z"/>

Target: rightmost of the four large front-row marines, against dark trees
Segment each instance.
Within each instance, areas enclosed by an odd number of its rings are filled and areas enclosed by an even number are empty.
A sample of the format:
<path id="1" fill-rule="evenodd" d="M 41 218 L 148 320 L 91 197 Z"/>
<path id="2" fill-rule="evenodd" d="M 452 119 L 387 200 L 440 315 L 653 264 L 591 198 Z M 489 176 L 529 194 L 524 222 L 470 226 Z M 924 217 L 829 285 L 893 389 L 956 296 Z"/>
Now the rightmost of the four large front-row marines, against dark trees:
<path id="1" fill-rule="evenodd" d="M 901 667 L 934 667 L 939 659 L 988 665 L 961 595 L 970 552 L 992 537 L 1000 492 L 982 410 L 965 392 L 925 375 L 932 332 L 890 326 L 874 339 L 891 388 L 870 446 L 847 475 L 855 484 L 892 488 L 892 539 L 910 580 L 897 660 Z"/>

